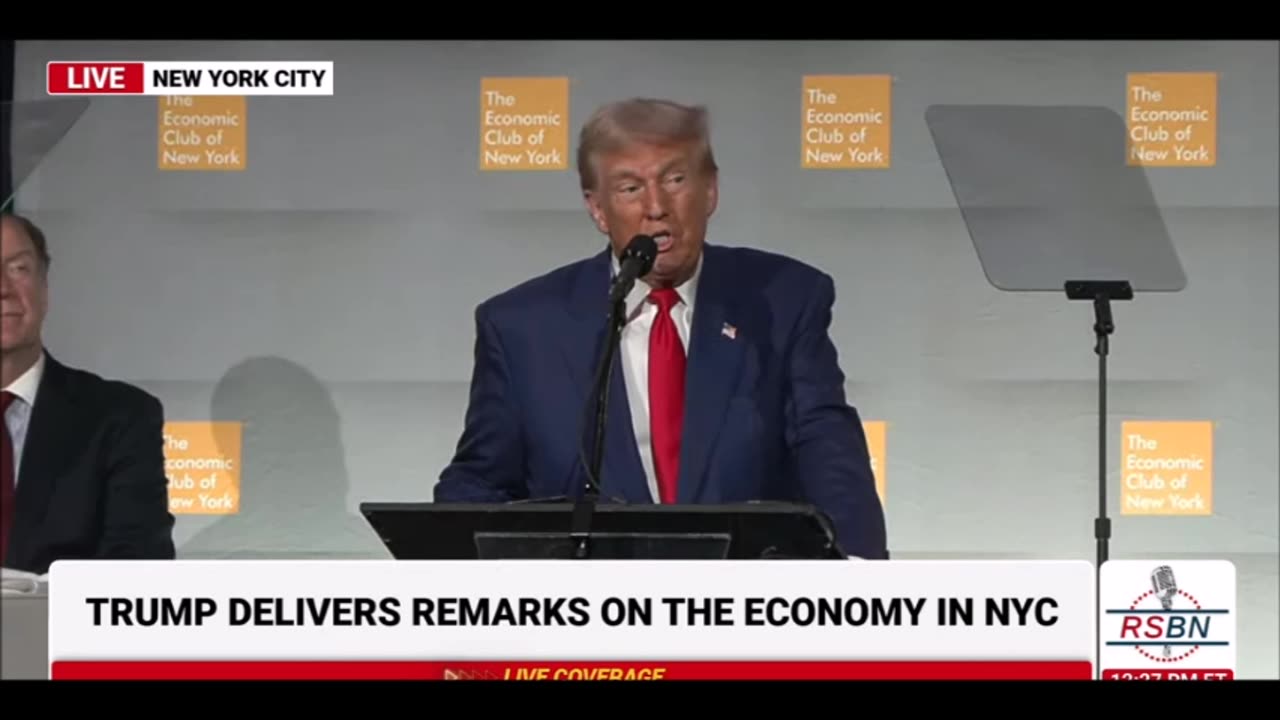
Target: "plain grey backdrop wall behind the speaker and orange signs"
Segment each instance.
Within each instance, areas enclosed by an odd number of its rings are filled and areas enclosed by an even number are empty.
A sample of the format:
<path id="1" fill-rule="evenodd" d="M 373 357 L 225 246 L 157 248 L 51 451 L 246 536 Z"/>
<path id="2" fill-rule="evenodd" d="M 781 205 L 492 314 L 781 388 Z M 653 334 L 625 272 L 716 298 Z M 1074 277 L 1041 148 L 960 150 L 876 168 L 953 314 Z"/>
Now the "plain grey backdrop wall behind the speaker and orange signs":
<path id="1" fill-rule="evenodd" d="M 1236 560 L 1242 665 L 1276 675 L 1276 44 L 22 42 L 15 96 L 93 59 L 335 63 L 333 97 L 248 100 L 243 172 L 159 172 L 156 100 L 95 99 L 19 190 L 51 238 L 52 352 L 170 420 L 244 421 L 239 512 L 182 515 L 184 556 L 383 556 L 356 505 L 430 497 L 474 306 L 602 243 L 572 170 L 477 170 L 481 78 L 567 76 L 575 133 L 630 95 L 708 105 L 709 240 L 836 277 L 899 556 L 1092 557 L 1092 315 L 988 284 L 924 110 L 1124 114 L 1126 73 L 1219 73 L 1216 165 L 1148 170 L 1189 286 L 1116 309 L 1108 454 L 1117 515 L 1121 421 L 1215 423 L 1213 512 L 1120 516 L 1114 553 Z M 828 73 L 892 76 L 891 168 L 801 169 L 801 77 Z"/>

